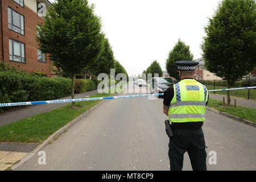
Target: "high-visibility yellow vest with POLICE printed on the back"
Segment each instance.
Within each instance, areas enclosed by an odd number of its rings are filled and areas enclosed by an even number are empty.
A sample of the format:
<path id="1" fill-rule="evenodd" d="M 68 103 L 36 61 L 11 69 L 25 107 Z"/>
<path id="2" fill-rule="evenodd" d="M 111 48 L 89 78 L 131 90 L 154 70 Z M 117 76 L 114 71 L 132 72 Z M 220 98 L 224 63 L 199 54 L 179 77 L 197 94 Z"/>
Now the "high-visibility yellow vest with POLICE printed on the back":
<path id="1" fill-rule="evenodd" d="M 170 122 L 205 121 L 208 90 L 205 85 L 191 79 L 174 84 L 174 97 L 168 110 Z"/>

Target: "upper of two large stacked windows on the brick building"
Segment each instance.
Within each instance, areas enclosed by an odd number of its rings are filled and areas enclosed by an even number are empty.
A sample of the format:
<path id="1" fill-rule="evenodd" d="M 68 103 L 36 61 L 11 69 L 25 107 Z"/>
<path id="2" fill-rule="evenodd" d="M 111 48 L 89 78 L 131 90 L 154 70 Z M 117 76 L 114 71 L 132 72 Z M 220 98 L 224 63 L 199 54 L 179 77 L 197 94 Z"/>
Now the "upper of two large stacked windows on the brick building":
<path id="1" fill-rule="evenodd" d="M 24 35 L 24 16 L 8 7 L 9 29 Z"/>

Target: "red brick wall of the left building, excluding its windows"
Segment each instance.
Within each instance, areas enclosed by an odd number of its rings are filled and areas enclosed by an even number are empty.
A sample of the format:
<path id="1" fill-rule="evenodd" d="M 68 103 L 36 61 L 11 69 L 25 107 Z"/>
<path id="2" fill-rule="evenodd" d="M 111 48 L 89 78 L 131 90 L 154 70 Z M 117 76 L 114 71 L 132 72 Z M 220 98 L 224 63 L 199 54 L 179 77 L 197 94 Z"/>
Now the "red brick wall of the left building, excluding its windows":
<path id="1" fill-rule="evenodd" d="M 18 13 L 24 16 L 24 35 L 18 34 L 15 31 L 8 28 L 8 7 L 18 11 Z M 51 77 L 51 71 L 48 69 L 51 67 L 49 60 L 46 63 L 40 63 L 38 61 L 38 44 L 36 43 L 36 24 L 43 24 L 44 19 L 36 14 L 28 7 L 20 6 L 12 0 L 2 1 L 2 21 L 3 21 L 3 60 L 5 63 L 15 65 L 19 69 L 24 69 L 26 72 L 41 72 Z M 25 60 L 26 63 L 17 63 L 9 60 L 9 38 L 17 40 L 25 44 Z M 2 42 L 1 42 L 2 44 Z M 53 74 L 53 73 L 52 73 Z"/>

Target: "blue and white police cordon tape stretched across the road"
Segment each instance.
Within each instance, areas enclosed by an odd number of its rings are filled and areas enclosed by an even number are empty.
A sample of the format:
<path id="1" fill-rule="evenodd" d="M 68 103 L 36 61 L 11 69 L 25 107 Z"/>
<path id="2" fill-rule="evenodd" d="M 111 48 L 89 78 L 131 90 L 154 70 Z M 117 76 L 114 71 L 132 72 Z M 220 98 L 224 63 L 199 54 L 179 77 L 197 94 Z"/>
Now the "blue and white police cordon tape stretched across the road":
<path id="1" fill-rule="evenodd" d="M 208 92 L 225 91 L 225 90 L 238 90 L 238 89 L 253 89 L 253 88 L 256 88 L 256 86 L 243 87 L 243 88 L 233 88 L 233 89 L 208 90 Z M 146 97 L 146 96 L 163 96 L 163 93 L 139 94 L 139 95 L 130 95 L 130 96 L 75 98 L 75 99 L 51 100 L 51 101 L 31 101 L 31 102 L 0 103 L 0 107 L 37 105 L 37 104 L 55 104 L 55 103 L 65 103 L 65 102 L 80 102 L 80 101 L 95 101 L 95 100 L 107 100 L 107 99 L 115 99 L 115 98 L 131 98 L 131 97 Z"/>

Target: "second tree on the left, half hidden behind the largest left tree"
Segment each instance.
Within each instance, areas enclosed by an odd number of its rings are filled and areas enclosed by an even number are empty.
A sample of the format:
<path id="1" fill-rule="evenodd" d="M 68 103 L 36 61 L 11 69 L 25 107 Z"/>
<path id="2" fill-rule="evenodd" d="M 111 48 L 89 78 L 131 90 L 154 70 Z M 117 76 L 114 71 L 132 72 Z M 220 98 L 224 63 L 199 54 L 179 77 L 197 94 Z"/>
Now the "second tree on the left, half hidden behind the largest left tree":
<path id="1" fill-rule="evenodd" d="M 93 76 L 100 73 L 110 74 L 110 69 L 114 68 L 114 53 L 107 38 L 104 39 L 104 49 L 97 60 L 92 61 L 85 69 Z"/>

